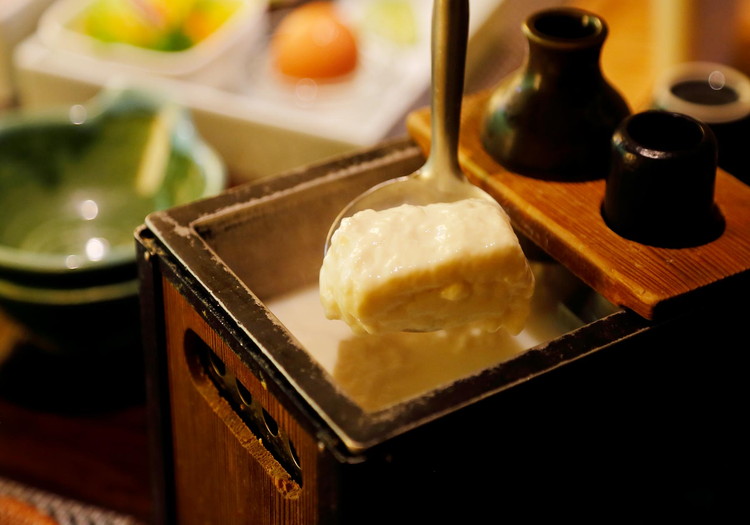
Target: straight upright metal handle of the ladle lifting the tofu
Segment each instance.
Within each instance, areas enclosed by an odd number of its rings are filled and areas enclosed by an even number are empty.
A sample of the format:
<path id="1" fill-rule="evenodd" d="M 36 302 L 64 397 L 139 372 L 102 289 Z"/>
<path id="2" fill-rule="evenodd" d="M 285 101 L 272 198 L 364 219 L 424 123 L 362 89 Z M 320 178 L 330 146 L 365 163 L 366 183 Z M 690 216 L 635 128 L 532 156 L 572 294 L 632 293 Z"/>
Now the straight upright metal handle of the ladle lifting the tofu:
<path id="1" fill-rule="evenodd" d="M 468 0 L 434 0 L 432 11 L 432 144 L 430 175 L 461 174 L 458 136 L 469 34 Z"/>

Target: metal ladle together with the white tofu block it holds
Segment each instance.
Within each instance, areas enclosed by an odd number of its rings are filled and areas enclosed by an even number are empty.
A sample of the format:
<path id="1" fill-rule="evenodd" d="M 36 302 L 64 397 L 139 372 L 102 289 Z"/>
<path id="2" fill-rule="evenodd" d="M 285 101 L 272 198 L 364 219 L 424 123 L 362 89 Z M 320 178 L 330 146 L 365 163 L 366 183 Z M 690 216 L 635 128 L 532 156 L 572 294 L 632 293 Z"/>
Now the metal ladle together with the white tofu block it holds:
<path id="1" fill-rule="evenodd" d="M 434 3 L 427 162 L 353 200 L 329 231 L 321 301 L 354 332 L 518 333 L 528 316 L 534 277 L 510 220 L 458 162 L 468 4 Z"/>

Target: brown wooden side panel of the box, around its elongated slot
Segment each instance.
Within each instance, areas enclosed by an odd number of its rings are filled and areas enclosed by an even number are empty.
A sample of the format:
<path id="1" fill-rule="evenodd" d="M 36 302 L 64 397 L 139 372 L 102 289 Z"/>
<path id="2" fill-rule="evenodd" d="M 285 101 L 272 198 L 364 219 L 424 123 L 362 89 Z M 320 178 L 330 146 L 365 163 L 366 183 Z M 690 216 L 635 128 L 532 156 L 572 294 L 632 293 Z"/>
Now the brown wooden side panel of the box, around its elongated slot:
<path id="1" fill-rule="evenodd" d="M 181 525 L 314 525 L 319 522 L 315 439 L 268 392 L 227 343 L 164 279 L 172 399 L 177 519 Z M 210 379 L 191 371 L 192 330 L 242 381 L 294 442 L 302 465 L 295 483 L 243 423 Z"/>

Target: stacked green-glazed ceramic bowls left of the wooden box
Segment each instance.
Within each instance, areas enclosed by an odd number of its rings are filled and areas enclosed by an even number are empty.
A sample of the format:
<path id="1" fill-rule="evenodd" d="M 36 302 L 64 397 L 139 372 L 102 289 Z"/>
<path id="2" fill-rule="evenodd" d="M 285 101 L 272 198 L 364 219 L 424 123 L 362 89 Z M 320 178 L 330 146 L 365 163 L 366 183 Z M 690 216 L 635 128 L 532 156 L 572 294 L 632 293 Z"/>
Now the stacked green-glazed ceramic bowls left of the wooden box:
<path id="1" fill-rule="evenodd" d="M 137 332 L 134 230 L 225 186 L 190 114 L 150 93 L 0 117 L 0 306 L 66 349 Z"/>

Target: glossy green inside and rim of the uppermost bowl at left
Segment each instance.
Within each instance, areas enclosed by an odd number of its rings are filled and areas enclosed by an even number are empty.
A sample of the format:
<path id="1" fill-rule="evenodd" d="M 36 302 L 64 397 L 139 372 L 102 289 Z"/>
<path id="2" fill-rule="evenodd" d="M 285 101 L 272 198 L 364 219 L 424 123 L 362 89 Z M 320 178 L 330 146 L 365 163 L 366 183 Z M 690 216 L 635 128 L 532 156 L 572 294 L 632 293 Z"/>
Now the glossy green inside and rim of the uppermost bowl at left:
<path id="1" fill-rule="evenodd" d="M 132 91 L 0 120 L 0 271 L 83 273 L 134 260 L 154 210 L 216 193 L 223 167 L 180 108 Z"/>

